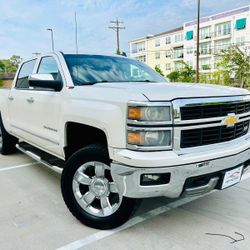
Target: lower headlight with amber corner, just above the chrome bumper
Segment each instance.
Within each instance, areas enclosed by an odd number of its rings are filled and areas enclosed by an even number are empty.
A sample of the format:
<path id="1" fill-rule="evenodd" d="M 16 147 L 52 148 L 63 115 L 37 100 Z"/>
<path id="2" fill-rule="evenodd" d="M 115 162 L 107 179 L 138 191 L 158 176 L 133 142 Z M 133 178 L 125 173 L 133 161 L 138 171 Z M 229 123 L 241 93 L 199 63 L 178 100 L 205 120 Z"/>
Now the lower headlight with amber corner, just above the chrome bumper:
<path id="1" fill-rule="evenodd" d="M 129 130 L 127 132 L 127 143 L 130 148 L 138 147 L 160 147 L 162 150 L 170 148 L 172 144 L 171 140 L 171 130 Z M 160 149 L 159 148 L 159 149 Z"/>

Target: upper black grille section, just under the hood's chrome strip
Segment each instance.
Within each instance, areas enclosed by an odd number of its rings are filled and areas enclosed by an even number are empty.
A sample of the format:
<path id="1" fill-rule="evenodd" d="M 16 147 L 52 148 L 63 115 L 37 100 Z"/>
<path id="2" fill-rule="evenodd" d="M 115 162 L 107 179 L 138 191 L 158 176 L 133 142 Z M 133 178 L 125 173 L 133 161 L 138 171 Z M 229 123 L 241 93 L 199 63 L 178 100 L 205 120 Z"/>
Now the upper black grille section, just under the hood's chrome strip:
<path id="1" fill-rule="evenodd" d="M 221 117 L 227 116 L 229 113 L 242 114 L 250 112 L 250 102 L 181 107 L 180 111 L 182 120 Z"/>

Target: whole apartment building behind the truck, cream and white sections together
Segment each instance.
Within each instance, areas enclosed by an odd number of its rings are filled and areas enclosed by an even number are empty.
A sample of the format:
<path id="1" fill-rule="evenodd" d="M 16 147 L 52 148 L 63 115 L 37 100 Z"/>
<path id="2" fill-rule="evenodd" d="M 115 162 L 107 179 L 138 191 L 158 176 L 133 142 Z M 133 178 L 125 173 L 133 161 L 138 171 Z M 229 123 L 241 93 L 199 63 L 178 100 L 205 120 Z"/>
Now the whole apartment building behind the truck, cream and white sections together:
<path id="1" fill-rule="evenodd" d="M 196 40 L 197 20 L 189 21 L 183 27 L 130 41 L 130 56 L 160 67 L 167 75 L 183 67 L 182 61 L 196 67 Z M 216 70 L 218 53 L 230 44 L 250 53 L 250 6 L 201 18 L 201 73 Z"/>

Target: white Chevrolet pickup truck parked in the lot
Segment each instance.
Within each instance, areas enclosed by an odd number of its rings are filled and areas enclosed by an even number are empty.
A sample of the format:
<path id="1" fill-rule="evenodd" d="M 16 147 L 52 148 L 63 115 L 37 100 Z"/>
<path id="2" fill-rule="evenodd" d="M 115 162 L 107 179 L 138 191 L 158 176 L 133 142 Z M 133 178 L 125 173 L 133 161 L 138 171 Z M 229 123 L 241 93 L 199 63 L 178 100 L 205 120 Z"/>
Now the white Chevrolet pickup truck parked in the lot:
<path id="1" fill-rule="evenodd" d="M 62 172 L 65 203 L 94 228 L 124 223 L 138 198 L 232 186 L 249 165 L 249 91 L 169 83 L 125 57 L 24 61 L 0 114 L 1 153 Z"/>

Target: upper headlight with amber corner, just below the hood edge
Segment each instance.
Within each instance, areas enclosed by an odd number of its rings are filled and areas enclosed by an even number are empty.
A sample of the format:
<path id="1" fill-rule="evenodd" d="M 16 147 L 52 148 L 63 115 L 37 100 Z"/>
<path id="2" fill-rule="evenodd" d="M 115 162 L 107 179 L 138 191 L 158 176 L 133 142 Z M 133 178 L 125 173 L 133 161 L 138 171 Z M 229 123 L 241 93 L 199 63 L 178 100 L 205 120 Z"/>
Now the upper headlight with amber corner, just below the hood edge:
<path id="1" fill-rule="evenodd" d="M 128 107 L 128 120 L 139 122 L 170 122 L 170 106 Z"/>

